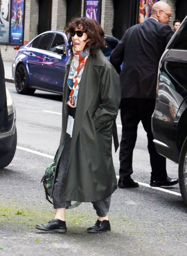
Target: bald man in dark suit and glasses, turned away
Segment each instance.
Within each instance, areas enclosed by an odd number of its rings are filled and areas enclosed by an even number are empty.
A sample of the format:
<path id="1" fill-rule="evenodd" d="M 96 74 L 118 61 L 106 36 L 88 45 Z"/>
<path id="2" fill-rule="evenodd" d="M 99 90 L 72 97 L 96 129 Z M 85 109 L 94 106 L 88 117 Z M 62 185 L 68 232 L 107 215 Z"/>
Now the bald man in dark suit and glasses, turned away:
<path id="1" fill-rule="evenodd" d="M 119 188 L 138 186 L 131 179 L 131 174 L 132 155 L 140 121 L 148 138 L 152 169 L 150 185 L 172 186 L 178 183 L 178 179 L 167 176 L 166 158 L 156 152 L 151 131 L 159 61 L 173 35 L 168 25 L 170 21 L 169 5 L 162 1 L 155 3 L 151 9 L 151 17 L 144 23 L 129 28 L 111 53 L 110 62 L 120 74 L 122 88 Z M 120 70 L 122 62 L 123 68 Z"/>

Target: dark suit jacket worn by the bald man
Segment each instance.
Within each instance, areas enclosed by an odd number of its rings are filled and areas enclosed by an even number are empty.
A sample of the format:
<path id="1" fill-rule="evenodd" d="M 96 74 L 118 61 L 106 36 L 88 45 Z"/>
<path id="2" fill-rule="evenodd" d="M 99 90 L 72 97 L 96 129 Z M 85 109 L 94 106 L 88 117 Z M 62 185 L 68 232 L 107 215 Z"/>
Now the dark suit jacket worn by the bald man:
<path id="1" fill-rule="evenodd" d="M 110 56 L 120 74 L 122 98 L 156 98 L 159 61 L 173 34 L 169 25 L 153 18 L 126 30 Z"/>

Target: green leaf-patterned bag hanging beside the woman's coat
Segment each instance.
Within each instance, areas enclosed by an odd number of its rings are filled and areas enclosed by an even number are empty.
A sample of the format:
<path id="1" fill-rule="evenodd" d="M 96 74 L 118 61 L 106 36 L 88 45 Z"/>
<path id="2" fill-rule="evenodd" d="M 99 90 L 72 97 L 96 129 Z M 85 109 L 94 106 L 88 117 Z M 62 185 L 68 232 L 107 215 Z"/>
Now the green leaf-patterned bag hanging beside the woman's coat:
<path id="1" fill-rule="evenodd" d="M 58 148 L 58 150 L 59 150 L 59 148 Z M 42 177 L 42 180 L 41 180 L 41 182 L 43 182 L 43 186 L 44 186 L 44 189 L 45 189 L 46 199 L 47 199 L 47 201 L 49 201 L 49 203 L 52 203 L 52 201 L 49 200 L 49 197 L 51 195 L 53 177 L 54 177 L 55 168 L 56 168 L 56 161 L 57 161 L 57 158 L 58 158 L 58 150 L 56 151 L 56 155 L 55 155 L 55 158 L 54 158 L 53 162 L 47 166 L 47 169 L 45 171 L 45 175 Z"/>

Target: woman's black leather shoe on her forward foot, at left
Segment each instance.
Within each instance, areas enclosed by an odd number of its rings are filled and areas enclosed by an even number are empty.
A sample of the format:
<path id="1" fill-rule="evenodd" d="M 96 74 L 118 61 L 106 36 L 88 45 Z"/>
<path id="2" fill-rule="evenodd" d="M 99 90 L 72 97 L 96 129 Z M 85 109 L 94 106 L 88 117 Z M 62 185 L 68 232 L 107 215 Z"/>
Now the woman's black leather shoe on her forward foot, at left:
<path id="1" fill-rule="evenodd" d="M 59 219 L 50 220 L 46 224 L 36 225 L 36 229 L 53 233 L 65 233 L 67 231 L 65 221 Z"/>

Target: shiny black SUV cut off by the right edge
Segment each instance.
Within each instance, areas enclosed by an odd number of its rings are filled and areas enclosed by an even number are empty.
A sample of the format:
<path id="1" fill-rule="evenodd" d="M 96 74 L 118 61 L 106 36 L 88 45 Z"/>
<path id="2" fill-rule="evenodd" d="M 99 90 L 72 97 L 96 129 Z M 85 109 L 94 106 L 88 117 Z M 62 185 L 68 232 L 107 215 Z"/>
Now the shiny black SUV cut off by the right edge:
<path id="1" fill-rule="evenodd" d="M 160 60 L 152 131 L 157 152 L 179 164 L 180 191 L 187 206 L 187 17 Z"/>

